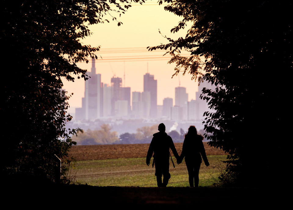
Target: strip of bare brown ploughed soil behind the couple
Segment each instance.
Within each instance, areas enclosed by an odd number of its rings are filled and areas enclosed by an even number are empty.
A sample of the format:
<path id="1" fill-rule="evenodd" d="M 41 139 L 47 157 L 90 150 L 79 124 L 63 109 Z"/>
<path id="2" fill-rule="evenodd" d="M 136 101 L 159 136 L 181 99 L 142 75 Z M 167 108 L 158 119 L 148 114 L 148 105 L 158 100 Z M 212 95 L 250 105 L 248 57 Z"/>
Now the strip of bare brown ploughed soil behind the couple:
<path id="1" fill-rule="evenodd" d="M 183 143 L 174 143 L 179 155 Z M 80 145 L 73 146 L 69 156 L 76 157 L 76 160 L 104 160 L 117 158 L 146 157 L 149 144 L 115 144 L 115 145 Z M 225 155 L 225 153 L 204 142 L 207 155 Z"/>

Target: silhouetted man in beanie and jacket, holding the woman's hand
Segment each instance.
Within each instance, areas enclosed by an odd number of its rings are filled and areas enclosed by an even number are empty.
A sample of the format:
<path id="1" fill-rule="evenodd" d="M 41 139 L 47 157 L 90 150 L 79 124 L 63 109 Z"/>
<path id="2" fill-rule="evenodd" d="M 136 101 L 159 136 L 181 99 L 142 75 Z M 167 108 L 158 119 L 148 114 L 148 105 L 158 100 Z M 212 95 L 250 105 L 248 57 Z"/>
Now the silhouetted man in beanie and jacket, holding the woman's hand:
<path id="1" fill-rule="evenodd" d="M 165 133 L 165 125 L 163 123 L 159 124 L 158 130 L 160 132 L 155 133 L 153 136 L 152 141 L 150 142 L 149 150 L 147 151 L 147 165 L 150 165 L 150 158 L 154 153 L 154 164 L 156 168 L 155 176 L 157 176 L 157 184 L 158 187 L 166 187 L 168 181 L 171 177 L 169 173 L 169 157 L 170 157 L 170 150 L 176 159 L 179 160 L 179 155 L 177 150 L 174 146 L 172 138 Z M 154 167 L 154 165 L 153 165 Z M 162 183 L 162 175 L 163 183 Z"/>

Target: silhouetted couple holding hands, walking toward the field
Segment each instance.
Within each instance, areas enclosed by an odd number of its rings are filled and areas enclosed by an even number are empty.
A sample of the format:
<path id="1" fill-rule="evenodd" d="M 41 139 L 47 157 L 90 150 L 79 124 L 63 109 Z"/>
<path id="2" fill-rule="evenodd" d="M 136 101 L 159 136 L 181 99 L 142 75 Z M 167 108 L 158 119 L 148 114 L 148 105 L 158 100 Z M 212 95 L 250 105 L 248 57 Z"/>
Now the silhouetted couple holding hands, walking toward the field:
<path id="1" fill-rule="evenodd" d="M 159 132 L 153 135 L 154 137 L 147 151 L 148 166 L 154 153 L 153 167 L 155 165 L 155 176 L 157 177 L 158 187 L 166 187 L 171 177 L 169 173 L 169 149 L 172 150 L 175 158 L 177 159 L 177 164 L 182 163 L 182 160 L 185 157 L 185 163 L 189 175 L 189 185 L 190 187 L 198 187 L 198 174 L 202 159 L 204 160 L 205 165 L 209 166 L 208 158 L 205 154 L 202 142 L 203 137 L 197 134 L 197 130 L 194 126 L 190 126 L 187 134 L 185 135 L 182 152 L 179 156 L 172 138 L 165 132 L 166 128 L 163 123 L 159 124 L 158 130 Z"/>

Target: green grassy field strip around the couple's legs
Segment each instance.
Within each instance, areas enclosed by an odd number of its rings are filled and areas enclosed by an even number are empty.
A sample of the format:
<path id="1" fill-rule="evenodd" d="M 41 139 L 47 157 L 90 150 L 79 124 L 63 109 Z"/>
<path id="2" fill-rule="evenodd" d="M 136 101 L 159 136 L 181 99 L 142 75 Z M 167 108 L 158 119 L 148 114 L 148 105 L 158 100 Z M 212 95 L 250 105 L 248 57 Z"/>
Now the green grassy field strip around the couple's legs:
<path id="1" fill-rule="evenodd" d="M 172 159 L 176 162 L 175 157 Z M 209 167 L 206 167 L 204 163 L 201 164 L 199 186 L 212 186 L 212 183 L 217 181 L 218 173 L 223 168 L 221 161 L 226 160 L 226 156 L 208 156 L 208 160 Z M 155 169 L 148 167 L 145 161 L 145 158 L 77 161 L 70 175 L 75 176 L 77 182 L 92 186 L 156 186 Z M 168 186 L 189 186 L 184 160 L 182 164 L 176 164 L 175 168 L 170 160 L 170 174 Z"/>

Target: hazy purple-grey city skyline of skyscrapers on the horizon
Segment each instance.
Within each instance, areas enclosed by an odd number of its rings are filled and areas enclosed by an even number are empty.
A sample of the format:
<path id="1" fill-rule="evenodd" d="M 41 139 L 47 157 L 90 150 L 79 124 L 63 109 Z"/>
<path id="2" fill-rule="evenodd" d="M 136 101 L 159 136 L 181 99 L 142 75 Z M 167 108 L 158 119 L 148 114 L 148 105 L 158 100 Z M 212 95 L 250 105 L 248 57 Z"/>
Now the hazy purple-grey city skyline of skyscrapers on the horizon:
<path id="1" fill-rule="evenodd" d="M 143 92 L 131 91 L 131 87 L 122 87 L 122 78 L 113 76 L 111 85 L 101 82 L 102 75 L 96 73 L 95 62 L 92 62 L 90 78 L 85 82 L 82 105 L 75 109 L 75 120 L 95 120 L 100 118 L 128 118 L 128 119 L 159 119 L 165 118 L 175 121 L 200 120 L 202 113 L 208 110 L 205 101 L 188 100 L 186 87 L 175 87 L 175 105 L 172 98 L 164 98 L 163 105 L 157 104 L 157 79 L 154 75 L 143 75 Z M 125 77 L 124 77 L 125 80 Z M 180 82 L 179 82 L 180 85 Z M 212 88 L 204 82 L 200 86 Z M 131 98 L 132 95 L 132 98 Z M 73 114 L 73 113 L 72 113 Z"/>

